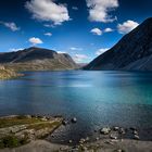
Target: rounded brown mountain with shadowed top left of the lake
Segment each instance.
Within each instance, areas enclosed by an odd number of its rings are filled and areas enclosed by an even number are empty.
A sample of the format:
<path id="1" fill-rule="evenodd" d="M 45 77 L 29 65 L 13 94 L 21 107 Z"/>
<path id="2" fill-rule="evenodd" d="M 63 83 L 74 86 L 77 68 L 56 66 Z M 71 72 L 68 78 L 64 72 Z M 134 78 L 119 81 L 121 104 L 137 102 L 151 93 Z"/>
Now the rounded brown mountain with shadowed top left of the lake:
<path id="1" fill-rule="evenodd" d="M 77 64 L 68 54 L 36 47 L 16 52 L 0 53 L 0 64 L 15 71 L 77 68 Z"/>

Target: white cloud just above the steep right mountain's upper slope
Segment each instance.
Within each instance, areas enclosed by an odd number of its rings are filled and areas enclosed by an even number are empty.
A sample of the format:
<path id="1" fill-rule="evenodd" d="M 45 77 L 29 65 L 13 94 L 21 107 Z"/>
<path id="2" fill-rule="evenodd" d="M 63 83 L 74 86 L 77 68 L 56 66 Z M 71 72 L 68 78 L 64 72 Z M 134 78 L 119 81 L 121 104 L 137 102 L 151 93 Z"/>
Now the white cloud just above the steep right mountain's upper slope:
<path id="1" fill-rule="evenodd" d="M 118 24 L 117 25 L 117 30 L 119 34 L 127 34 L 129 31 L 131 31 L 134 28 L 136 28 L 139 24 L 137 22 L 134 21 L 126 21 L 123 24 Z"/>

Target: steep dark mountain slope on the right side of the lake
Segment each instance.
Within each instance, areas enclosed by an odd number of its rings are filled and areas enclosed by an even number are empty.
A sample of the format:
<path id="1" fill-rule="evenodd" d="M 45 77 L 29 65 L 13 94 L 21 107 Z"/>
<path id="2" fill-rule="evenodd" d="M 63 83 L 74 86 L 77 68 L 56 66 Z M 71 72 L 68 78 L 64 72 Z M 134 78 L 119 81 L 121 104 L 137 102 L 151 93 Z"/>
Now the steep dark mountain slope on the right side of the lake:
<path id="1" fill-rule="evenodd" d="M 152 71 L 152 17 L 125 35 L 84 69 Z"/>

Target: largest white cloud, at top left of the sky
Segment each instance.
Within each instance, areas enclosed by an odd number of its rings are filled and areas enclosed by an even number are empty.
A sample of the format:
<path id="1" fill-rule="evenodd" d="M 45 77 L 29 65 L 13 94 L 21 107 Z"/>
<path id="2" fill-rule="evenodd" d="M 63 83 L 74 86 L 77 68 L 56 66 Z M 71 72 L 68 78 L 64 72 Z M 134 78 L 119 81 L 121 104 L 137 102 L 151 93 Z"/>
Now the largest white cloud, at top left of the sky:
<path id="1" fill-rule="evenodd" d="M 33 17 L 39 21 L 52 22 L 54 25 L 69 21 L 67 8 L 56 4 L 54 0 L 30 0 L 25 7 L 33 13 Z"/>

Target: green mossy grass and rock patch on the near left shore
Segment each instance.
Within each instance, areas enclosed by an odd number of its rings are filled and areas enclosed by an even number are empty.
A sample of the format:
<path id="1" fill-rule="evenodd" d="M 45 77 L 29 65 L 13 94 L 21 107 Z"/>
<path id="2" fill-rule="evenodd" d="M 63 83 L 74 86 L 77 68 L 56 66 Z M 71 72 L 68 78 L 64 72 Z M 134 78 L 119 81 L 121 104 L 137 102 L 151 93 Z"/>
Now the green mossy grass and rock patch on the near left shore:
<path id="1" fill-rule="evenodd" d="M 15 148 L 45 138 L 62 124 L 61 117 L 9 116 L 0 118 L 0 149 Z"/>

